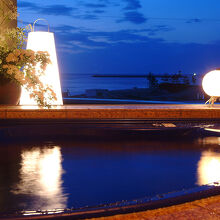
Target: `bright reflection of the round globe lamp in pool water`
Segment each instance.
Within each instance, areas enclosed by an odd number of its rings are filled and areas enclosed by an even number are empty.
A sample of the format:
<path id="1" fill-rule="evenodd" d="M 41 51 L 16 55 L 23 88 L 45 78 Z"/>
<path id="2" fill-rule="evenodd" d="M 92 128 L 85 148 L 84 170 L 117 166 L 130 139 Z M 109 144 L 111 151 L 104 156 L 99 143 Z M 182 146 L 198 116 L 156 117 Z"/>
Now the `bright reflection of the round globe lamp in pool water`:
<path id="1" fill-rule="evenodd" d="M 198 163 L 197 184 L 205 185 L 220 181 L 220 153 L 205 151 Z"/>

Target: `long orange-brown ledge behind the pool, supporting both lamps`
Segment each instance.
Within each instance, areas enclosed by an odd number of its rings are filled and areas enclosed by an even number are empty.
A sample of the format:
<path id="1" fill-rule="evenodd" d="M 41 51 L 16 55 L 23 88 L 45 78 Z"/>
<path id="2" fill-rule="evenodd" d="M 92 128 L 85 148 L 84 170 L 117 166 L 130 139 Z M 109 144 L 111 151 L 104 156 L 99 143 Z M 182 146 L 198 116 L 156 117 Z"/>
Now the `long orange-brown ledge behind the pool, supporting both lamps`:
<path id="1" fill-rule="evenodd" d="M 220 119 L 220 105 L 78 104 L 51 109 L 1 105 L 0 119 Z"/>

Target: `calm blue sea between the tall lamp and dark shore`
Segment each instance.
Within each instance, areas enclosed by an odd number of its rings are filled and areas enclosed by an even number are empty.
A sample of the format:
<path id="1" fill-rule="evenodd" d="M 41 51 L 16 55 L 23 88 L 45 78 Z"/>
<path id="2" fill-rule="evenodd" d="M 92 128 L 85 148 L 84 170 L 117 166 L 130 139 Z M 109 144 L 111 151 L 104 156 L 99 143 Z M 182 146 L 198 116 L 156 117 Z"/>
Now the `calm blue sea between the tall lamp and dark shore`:
<path id="1" fill-rule="evenodd" d="M 92 73 L 61 73 L 62 91 L 68 90 L 70 95 L 80 95 L 85 94 L 88 89 L 148 88 L 147 77 L 93 77 L 93 75 Z M 132 74 L 132 76 L 134 75 Z"/>

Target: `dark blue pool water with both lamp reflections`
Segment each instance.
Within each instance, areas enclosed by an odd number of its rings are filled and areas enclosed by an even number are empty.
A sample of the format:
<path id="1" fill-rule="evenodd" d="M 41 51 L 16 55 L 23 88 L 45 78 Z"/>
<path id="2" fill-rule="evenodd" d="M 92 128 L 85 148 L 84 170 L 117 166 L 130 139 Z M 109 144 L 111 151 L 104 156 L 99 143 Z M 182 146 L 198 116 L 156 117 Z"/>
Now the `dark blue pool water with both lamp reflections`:
<path id="1" fill-rule="evenodd" d="M 219 137 L 0 144 L 0 213 L 95 206 L 218 180 Z"/>

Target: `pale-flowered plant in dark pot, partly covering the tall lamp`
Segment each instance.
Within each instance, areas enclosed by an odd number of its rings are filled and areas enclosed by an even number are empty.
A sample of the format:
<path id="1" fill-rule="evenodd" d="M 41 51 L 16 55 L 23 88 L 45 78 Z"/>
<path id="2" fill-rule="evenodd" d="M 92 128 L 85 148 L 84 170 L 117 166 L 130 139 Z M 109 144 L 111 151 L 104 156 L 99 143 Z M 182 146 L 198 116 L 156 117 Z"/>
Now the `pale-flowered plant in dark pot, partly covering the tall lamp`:
<path id="1" fill-rule="evenodd" d="M 50 63 L 49 55 L 43 51 L 24 49 L 30 25 L 25 28 L 4 28 L 2 24 L 15 19 L 17 15 L 11 7 L 0 18 L 0 104 L 18 104 L 19 97 L 10 98 L 10 94 L 19 96 L 20 87 L 23 87 L 39 106 L 50 107 L 51 101 L 56 100 L 56 94 L 49 85 L 45 86 L 40 81 Z"/>

